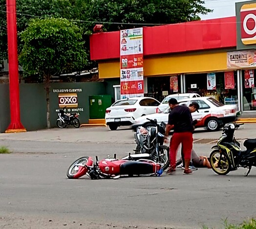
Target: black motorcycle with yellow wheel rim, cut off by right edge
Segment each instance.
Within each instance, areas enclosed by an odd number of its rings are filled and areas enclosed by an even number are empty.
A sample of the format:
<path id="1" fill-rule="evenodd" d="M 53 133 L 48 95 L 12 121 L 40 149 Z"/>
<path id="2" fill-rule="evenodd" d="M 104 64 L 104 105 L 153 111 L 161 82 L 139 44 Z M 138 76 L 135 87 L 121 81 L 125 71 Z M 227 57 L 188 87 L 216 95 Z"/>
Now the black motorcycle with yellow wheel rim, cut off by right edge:
<path id="1" fill-rule="evenodd" d="M 210 155 L 210 163 L 214 172 L 226 175 L 239 167 L 249 169 L 248 176 L 253 166 L 256 167 L 256 139 L 244 141 L 245 151 L 241 151 L 240 143 L 235 140 L 235 129 L 243 124 L 226 124 L 217 145 L 213 146 Z"/>

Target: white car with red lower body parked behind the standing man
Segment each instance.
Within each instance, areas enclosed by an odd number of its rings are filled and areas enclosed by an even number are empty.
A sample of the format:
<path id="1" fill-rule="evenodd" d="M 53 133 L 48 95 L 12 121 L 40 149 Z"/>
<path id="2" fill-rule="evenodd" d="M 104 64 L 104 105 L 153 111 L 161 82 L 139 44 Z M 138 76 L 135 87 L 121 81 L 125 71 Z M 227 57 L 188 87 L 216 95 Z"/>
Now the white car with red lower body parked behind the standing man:
<path id="1" fill-rule="evenodd" d="M 229 122 L 234 122 L 241 112 L 237 111 L 236 105 L 223 105 L 213 97 L 197 97 L 189 98 L 179 102 L 180 105 L 189 106 L 191 102 L 199 104 L 198 112 L 192 113 L 192 118 L 198 120 L 196 127 L 206 127 L 209 131 L 216 131 L 221 126 Z M 145 125 L 149 119 L 156 119 L 158 123 L 168 122 L 168 115 L 170 108 L 167 108 L 163 113 L 155 113 L 139 117 L 132 125 L 132 129 L 136 130 L 137 127 Z"/>

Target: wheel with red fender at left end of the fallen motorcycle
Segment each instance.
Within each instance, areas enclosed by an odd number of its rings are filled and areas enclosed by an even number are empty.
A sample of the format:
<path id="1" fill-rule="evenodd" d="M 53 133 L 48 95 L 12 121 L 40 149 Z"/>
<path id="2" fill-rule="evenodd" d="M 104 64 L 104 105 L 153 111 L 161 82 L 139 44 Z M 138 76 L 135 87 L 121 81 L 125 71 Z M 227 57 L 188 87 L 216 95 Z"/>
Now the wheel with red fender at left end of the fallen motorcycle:
<path id="1" fill-rule="evenodd" d="M 89 157 L 88 156 L 83 156 L 75 160 L 69 167 L 66 172 L 66 176 L 68 179 L 78 179 L 81 176 L 84 176 L 86 172 L 88 171 L 87 169 L 79 169 L 79 166 L 76 166 L 76 164 L 87 164 L 89 162 Z"/>

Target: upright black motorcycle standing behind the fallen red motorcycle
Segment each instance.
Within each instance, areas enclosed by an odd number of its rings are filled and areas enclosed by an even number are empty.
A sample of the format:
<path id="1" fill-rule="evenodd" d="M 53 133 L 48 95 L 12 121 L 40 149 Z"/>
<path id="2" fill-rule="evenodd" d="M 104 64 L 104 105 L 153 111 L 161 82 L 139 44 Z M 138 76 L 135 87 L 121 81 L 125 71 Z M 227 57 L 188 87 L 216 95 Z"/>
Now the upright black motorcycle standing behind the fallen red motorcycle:
<path id="1" fill-rule="evenodd" d="M 137 147 L 134 154 L 122 158 L 133 160 L 147 159 L 163 165 L 163 170 L 166 170 L 170 164 L 169 147 L 164 146 L 165 139 L 165 123 L 158 124 L 156 119 L 151 120 L 145 127 L 138 127 L 134 134 Z"/>

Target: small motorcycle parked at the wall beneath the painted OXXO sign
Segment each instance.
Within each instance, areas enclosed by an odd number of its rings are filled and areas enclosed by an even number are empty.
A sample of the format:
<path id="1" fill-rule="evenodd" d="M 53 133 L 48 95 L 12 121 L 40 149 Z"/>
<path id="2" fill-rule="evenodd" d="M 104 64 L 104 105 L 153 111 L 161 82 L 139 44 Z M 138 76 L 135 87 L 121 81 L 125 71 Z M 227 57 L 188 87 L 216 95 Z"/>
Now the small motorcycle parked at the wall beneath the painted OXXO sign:
<path id="1" fill-rule="evenodd" d="M 65 128 L 67 125 L 72 125 L 75 128 L 79 128 L 80 127 L 80 122 L 78 119 L 79 115 L 77 113 L 66 115 L 64 112 L 65 108 L 66 107 L 64 107 L 63 109 L 60 109 L 59 118 L 57 119 L 56 125 L 59 128 Z"/>

